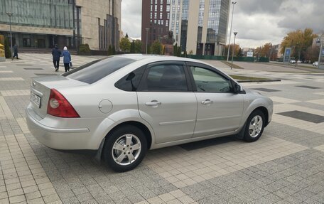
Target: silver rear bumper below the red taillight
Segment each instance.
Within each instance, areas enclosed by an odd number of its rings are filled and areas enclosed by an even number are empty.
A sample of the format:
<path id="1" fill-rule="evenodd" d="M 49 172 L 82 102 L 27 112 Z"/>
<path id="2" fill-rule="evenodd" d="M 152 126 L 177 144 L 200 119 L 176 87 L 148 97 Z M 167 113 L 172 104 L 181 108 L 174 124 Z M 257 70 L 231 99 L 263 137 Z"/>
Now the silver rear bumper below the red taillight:
<path id="1" fill-rule="evenodd" d="M 55 128 L 43 124 L 43 120 L 33 117 L 32 109 L 26 109 L 26 122 L 31 134 L 41 144 L 58 150 L 79 150 L 96 148 L 91 144 L 91 132 L 85 128 Z M 54 123 L 55 124 L 55 123 Z"/>

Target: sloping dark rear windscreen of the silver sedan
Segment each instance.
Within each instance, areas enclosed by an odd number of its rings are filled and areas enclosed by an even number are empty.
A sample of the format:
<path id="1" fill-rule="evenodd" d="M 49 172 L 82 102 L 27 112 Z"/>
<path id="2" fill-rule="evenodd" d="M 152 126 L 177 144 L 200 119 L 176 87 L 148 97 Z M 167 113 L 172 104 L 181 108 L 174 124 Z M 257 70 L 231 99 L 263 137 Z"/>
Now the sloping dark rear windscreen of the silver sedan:
<path id="1" fill-rule="evenodd" d="M 101 80 L 103 77 L 114 73 L 114 71 L 133 63 L 135 60 L 129 58 L 122 58 L 111 56 L 107 58 L 100 58 L 98 60 L 87 63 L 78 68 L 64 73 L 63 76 L 73 80 L 78 80 L 88 84 L 92 84 Z"/>

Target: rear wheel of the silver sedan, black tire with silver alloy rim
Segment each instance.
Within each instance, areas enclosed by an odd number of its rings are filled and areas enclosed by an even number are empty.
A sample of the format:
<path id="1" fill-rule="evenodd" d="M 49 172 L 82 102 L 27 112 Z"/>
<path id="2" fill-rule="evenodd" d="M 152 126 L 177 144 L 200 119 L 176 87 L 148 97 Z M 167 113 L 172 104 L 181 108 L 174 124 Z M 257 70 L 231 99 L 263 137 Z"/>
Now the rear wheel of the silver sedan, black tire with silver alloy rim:
<path id="1" fill-rule="evenodd" d="M 139 165 L 146 151 L 147 141 L 143 131 L 132 125 L 124 125 L 107 135 L 102 156 L 112 170 L 124 172 Z"/>

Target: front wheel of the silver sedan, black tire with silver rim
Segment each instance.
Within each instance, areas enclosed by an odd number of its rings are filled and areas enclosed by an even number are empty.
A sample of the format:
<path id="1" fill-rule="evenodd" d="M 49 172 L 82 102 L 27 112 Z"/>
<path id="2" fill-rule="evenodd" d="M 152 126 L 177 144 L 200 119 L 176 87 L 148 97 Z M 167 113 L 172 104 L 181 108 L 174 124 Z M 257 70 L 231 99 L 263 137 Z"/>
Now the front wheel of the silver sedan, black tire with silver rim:
<path id="1" fill-rule="evenodd" d="M 247 124 L 244 130 L 244 141 L 257 141 L 264 131 L 265 125 L 264 113 L 257 109 L 247 118 Z"/>

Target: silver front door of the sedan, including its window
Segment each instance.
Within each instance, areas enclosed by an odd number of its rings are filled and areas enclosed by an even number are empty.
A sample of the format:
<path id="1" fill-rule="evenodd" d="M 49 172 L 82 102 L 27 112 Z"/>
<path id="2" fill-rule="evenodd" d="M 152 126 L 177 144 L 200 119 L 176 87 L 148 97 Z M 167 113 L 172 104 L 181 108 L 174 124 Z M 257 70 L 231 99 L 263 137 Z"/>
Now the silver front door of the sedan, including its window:
<path id="1" fill-rule="evenodd" d="M 194 137 L 236 130 L 242 118 L 244 97 L 234 94 L 231 80 L 207 65 L 189 63 L 188 68 L 198 101 Z"/>

